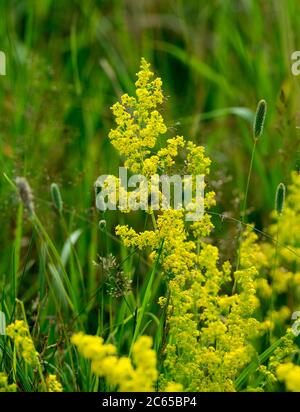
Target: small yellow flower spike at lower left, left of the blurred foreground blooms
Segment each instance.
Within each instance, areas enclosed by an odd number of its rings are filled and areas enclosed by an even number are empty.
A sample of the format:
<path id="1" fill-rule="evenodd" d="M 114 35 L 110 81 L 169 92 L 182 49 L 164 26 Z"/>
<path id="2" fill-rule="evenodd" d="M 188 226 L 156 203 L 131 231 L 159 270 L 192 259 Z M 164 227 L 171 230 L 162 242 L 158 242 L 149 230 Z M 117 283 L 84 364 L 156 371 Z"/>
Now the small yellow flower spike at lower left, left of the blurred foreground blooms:
<path id="1" fill-rule="evenodd" d="M 35 366 L 38 361 L 38 352 L 36 352 L 33 341 L 30 336 L 27 325 L 23 320 L 16 320 L 6 328 L 7 335 L 13 339 L 17 351 L 23 357 L 25 362 Z"/>

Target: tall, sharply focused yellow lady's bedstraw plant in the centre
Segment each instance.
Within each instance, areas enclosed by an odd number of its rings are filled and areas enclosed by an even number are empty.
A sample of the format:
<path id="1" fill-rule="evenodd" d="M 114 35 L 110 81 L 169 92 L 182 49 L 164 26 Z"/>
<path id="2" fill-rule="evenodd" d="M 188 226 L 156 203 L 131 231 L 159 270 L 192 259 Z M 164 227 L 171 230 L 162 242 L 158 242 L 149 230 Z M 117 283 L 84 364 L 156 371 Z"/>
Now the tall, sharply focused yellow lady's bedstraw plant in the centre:
<path id="1" fill-rule="evenodd" d="M 163 102 L 161 80 L 152 80 L 144 59 L 137 76 L 136 97 L 125 95 L 113 106 L 117 127 L 110 132 L 110 139 L 125 157 L 125 166 L 144 174 L 156 173 L 159 168 L 165 172 L 181 148 L 186 152 L 185 172 L 208 175 L 210 160 L 204 148 L 182 136 L 169 138 L 164 148 L 156 149 L 158 138 L 167 133 L 158 112 Z M 255 142 L 262 132 L 265 111 L 261 101 Z M 189 391 L 233 391 L 243 367 L 257 356 L 252 339 L 264 334 L 269 325 L 254 317 L 260 304 L 255 285 L 261 251 L 255 246 L 256 236 L 248 230 L 241 242 L 239 270 L 232 273 L 229 262 L 220 267 L 218 249 L 204 242 L 213 228 L 207 213 L 215 204 L 213 192 L 205 194 L 204 204 L 203 218 L 189 226 L 186 208 L 169 209 L 157 215 L 153 230 L 137 233 L 119 225 L 116 233 L 125 246 L 150 249 L 152 256 L 163 242 L 160 259 L 168 293 L 159 304 L 167 311 L 167 343 L 161 349 L 160 385 L 172 380 Z M 232 278 L 235 293 L 226 294 Z"/>

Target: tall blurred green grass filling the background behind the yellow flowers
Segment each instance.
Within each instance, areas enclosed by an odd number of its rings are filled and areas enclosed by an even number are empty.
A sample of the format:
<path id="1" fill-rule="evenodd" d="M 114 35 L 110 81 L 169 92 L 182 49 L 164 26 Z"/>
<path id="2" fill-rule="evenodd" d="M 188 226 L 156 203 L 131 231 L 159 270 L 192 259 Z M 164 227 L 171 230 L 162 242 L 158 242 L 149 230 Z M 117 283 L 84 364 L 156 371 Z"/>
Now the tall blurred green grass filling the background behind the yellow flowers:
<path id="1" fill-rule="evenodd" d="M 123 92 L 132 92 L 145 56 L 170 96 L 164 113 L 168 126 L 204 144 L 213 160 L 215 213 L 238 220 L 254 108 L 265 98 L 268 119 L 247 201 L 248 220 L 261 229 L 268 224 L 278 182 L 288 182 L 290 171 L 299 168 L 293 115 L 299 79 L 290 72 L 290 55 L 300 47 L 297 1 L 11 0 L 0 3 L 0 15 L 7 55 L 7 76 L 0 77 L 0 310 L 8 320 L 24 317 L 16 299 L 22 302 L 46 359 L 43 367 L 61 374 L 66 390 L 105 389 L 72 347 L 65 352 L 64 342 L 84 329 L 128 353 L 130 342 L 146 332 L 156 334 L 159 348 L 164 331 L 157 298 L 165 287 L 156 278 L 159 262 L 145 262 L 115 238 L 114 226 L 123 217 L 95 210 L 93 183 L 100 174 L 115 172 L 119 162 L 107 139 L 109 107 Z M 3 173 L 11 181 L 27 177 L 34 216 Z M 52 183 L 63 199 L 59 211 L 51 199 Z M 141 216 L 128 217 L 137 229 L 150 224 Z M 101 219 L 105 230 L 98 226 Z M 235 223 L 216 218 L 215 224 L 224 239 L 238 233 Z M 222 251 L 224 259 L 235 256 L 233 248 Z M 118 307 L 104 293 L 94 264 L 109 253 L 135 285 Z M 15 353 L 5 337 L 0 346 L 5 366 Z M 24 390 L 34 390 L 36 377 L 14 365 L 9 372 Z"/>

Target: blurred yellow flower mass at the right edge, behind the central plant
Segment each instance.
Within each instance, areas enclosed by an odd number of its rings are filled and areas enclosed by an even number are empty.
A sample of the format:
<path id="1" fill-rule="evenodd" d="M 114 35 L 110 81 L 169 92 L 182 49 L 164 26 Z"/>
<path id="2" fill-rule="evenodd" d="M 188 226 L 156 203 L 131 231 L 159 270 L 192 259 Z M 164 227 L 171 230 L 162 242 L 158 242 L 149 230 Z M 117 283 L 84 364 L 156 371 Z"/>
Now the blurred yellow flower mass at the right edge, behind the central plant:
<path id="1" fill-rule="evenodd" d="M 299 203 L 300 175 L 293 172 L 283 212 L 274 211 L 273 223 L 267 228 L 273 240 L 259 242 L 257 235 L 248 231 L 243 244 L 250 259 L 246 263 L 251 263 L 258 272 L 254 287 L 260 301 L 259 317 L 270 330 L 271 341 L 291 326 L 292 313 L 300 307 Z M 284 295 L 289 299 L 283 299 Z M 292 351 L 291 346 L 290 353 Z"/>

